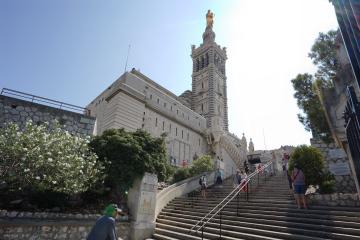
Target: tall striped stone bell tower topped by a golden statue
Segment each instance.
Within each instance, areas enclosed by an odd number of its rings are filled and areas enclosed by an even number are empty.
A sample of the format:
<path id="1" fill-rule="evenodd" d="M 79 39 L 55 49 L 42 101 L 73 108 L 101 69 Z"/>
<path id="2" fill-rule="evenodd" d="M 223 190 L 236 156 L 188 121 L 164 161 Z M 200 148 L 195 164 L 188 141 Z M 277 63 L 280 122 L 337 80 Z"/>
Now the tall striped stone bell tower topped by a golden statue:
<path id="1" fill-rule="evenodd" d="M 226 93 L 226 48 L 215 42 L 214 14 L 208 10 L 203 43 L 192 45 L 192 109 L 206 118 L 208 128 L 229 131 Z"/>

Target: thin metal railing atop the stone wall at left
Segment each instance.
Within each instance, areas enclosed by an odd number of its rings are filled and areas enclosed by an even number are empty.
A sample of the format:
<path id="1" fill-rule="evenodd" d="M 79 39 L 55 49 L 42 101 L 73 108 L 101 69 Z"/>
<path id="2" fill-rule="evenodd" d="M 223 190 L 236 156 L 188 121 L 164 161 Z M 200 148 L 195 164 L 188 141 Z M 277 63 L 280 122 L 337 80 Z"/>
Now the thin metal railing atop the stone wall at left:
<path id="1" fill-rule="evenodd" d="M 87 116 L 90 115 L 90 110 L 87 109 L 87 108 L 83 108 L 83 107 L 79 107 L 79 106 L 76 106 L 76 105 L 72 105 L 72 104 L 52 100 L 52 99 L 49 99 L 49 98 L 35 96 L 35 95 L 29 94 L 29 93 L 16 91 L 16 90 L 12 90 L 12 89 L 9 89 L 9 88 L 3 88 L 1 90 L 0 94 L 3 95 L 3 96 L 8 96 L 8 97 L 15 97 L 15 98 L 18 98 L 20 100 L 30 101 L 30 102 L 33 102 L 33 103 L 39 103 L 39 104 L 46 105 L 46 106 L 49 106 L 49 107 L 55 107 L 55 108 L 58 108 L 58 109 L 68 110 L 68 111 L 72 111 L 72 112 L 76 112 L 76 113 L 82 113 L 82 114 L 85 114 Z"/>

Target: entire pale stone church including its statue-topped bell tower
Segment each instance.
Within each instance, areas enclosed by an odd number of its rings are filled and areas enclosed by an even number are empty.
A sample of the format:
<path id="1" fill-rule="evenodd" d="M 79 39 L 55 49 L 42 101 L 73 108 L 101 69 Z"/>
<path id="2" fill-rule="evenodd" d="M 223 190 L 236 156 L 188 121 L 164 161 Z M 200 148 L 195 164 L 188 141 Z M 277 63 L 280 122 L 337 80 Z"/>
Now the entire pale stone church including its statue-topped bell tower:
<path id="1" fill-rule="evenodd" d="M 247 143 L 229 133 L 226 48 L 215 42 L 213 13 L 206 15 L 203 43 L 192 46 L 192 90 L 176 96 L 143 73 L 124 73 L 88 106 L 96 118 L 94 133 L 110 128 L 143 129 L 166 136 L 172 165 L 184 167 L 204 154 L 213 156 L 225 175 L 246 160 Z"/>

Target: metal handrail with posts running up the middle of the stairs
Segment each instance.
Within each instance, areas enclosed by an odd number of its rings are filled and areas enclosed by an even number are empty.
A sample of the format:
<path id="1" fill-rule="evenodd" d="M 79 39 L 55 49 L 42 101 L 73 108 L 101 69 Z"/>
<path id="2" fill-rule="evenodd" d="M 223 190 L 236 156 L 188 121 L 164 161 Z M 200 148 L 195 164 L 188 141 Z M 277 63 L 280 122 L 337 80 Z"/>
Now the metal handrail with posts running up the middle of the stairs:
<path id="1" fill-rule="evenodd" d="M 204 229 L 205 226 L 216 216 L 219 214 L 220 222 L 219 222 L 219 237 L 221 239 L 222 235 L 222 210 L 224 207 L 230 203 L 237 196 L 237 210 L 236 214 L 239 216 L 239 199 L 240 192 L 246 188 L 246 200 L 249 201 L 249 183 L 251 180 L 257 176 L 258 185 L 260 184 L 260 174 L 264 174 L 264 180 L 266 182 L 266 169 L 272 165 L 272 161 L 266 163 L 260 168 L 256 169 L 254 172 L 249 174 L 246 180 L 239 184 L 236 188 L 234 188 L 220 203 L 218 203 L 210 212 L 208 212 L 203 218 L 196 222 L 196 224 L 189 230 L 189 234 L 198 233 L 201 230 L 201 239 L 204 238 Z"/>

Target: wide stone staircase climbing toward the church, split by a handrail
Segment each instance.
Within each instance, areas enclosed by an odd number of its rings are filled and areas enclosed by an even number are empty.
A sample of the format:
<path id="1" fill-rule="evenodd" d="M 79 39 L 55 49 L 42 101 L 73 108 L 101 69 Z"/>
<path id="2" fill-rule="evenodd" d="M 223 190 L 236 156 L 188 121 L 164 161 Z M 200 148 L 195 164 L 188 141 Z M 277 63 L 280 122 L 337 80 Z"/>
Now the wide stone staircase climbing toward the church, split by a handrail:
<path id="1" fill-rule="evenodd" d="M 249 201 L 245 193 L 226 205 L 222 211 L 222 239 L 360 239 L 360 208 L 309 206 L 297 209 L 283 176 L 255 176 L 250 186 Z M 201 239 L 201 230 L 189 230 L 232 190 L 232 181 L 222 188 L 208 189 L 203 199 L 196 192 L 191 197 L 171 201 L 158 215 L 154 239 Z M 220 216 L 205 227 L 204 239 L 219 239 Z"/>

